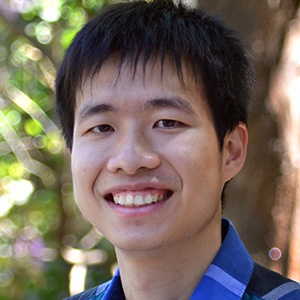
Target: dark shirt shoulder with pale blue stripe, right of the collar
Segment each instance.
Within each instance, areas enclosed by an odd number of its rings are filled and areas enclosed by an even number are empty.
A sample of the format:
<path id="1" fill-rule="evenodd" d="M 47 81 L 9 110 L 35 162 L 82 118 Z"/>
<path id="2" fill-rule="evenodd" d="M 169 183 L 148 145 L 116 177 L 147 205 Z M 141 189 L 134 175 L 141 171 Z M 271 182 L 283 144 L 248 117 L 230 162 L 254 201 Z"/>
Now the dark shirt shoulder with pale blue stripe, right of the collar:
<path id="1" fill-rule="evenodd" d="M 255 264 L 246 295 L 243 299 L 296 300 L 300 299 L 300 284 Z"/>

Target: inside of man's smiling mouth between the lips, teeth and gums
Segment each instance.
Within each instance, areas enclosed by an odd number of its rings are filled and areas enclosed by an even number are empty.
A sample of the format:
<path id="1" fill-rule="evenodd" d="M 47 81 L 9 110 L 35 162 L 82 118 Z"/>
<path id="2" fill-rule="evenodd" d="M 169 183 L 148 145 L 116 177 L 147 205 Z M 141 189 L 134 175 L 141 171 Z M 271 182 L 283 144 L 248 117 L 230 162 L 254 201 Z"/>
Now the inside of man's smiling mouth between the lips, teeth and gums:
<path id="1" fill-rule="evenodd" d="M 172 194 L 173 192 L 169 190 L 122 191 L 110 193 L 104 198 L 106 201 L 124 207 L 141 207 L 165 201 L 169 199 Z"/>

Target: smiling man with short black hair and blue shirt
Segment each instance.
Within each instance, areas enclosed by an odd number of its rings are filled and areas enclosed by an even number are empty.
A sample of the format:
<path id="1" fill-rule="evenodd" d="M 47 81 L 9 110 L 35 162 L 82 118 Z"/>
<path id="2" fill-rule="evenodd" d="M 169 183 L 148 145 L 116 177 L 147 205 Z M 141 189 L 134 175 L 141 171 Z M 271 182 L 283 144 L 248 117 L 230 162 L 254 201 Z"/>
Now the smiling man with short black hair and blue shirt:
<path id="1" fill-rule="evenodd" d="M 77 34 L 58 113 L 75 199 L 119 268 L 69 299 L 300 299 L 222 220 L 245 161 L 252 81 L 234 33 L 181 3 L 115 4 Z"/>

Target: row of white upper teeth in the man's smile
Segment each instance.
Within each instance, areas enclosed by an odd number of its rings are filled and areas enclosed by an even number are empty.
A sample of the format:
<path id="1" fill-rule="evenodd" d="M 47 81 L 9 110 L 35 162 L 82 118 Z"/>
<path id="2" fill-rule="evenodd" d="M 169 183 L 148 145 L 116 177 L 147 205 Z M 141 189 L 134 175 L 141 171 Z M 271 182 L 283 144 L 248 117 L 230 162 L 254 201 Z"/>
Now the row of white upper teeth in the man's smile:
<path id="1" fill-rule="evenodd" d="M 131 194 L 113 195 L 114 202 L 116 204 L 123 205 L 123 206 L 142 206 L 145 204 L 155 203 L 155 202 L 161 200 L 162 198 L 163 198 L 163 195 L 158 196 L 157 194 L 156 195 L 147 194 L 145 196 L 142 196 L 142 195 L 133 196 Z"/>

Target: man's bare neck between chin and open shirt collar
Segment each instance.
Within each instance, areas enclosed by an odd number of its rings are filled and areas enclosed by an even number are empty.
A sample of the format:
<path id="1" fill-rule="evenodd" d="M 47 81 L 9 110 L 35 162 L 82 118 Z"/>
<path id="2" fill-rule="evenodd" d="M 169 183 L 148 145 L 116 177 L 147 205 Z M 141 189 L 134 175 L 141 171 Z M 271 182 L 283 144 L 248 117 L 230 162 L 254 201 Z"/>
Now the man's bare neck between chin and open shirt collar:
<path id="1" fill-rule="evenodd" d="M 126 299 L 189 299 L 221 246 L 221 227 L 164 249 L 116 248 Z"/>

